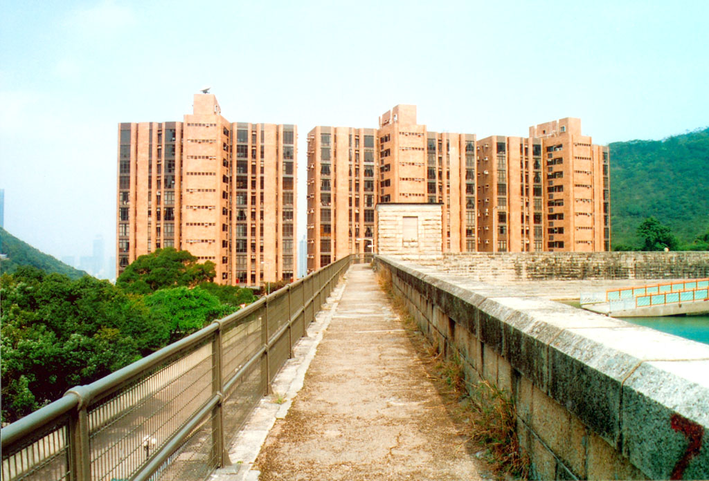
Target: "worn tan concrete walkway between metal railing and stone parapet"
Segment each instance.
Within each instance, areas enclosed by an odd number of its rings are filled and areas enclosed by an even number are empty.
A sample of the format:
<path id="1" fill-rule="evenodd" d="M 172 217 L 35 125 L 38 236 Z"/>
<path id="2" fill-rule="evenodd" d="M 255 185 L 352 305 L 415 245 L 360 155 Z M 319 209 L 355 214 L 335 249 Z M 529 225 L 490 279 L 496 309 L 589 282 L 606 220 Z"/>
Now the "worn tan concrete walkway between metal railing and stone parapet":
<path id="1" fill-rule="evenodd" d="M 354 265 L 302 390 L 256 460 L 260 480 L 477 480 L 374 272 Z"/>

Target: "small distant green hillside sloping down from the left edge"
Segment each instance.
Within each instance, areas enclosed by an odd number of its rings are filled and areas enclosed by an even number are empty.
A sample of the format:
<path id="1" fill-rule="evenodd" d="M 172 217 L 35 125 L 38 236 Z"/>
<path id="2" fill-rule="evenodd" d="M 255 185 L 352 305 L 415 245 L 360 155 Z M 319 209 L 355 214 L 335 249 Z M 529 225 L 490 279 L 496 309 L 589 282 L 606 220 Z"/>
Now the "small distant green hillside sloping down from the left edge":
<path id="1" fill-rule="evenodd" d="M 31 265 L 45 272 L 65 274 L 70 279 L 79 279 L 79 277 L 88 275 L 82 270 L 74 269 L 74 267 L 56 260 L 51 255 L 33 248 L 1 227 L 0 253 L 7 255 L 6 259 L 0 261 L 0 270 L 3 273 L 11 274 L 17 270 L 18 266 Z"/>

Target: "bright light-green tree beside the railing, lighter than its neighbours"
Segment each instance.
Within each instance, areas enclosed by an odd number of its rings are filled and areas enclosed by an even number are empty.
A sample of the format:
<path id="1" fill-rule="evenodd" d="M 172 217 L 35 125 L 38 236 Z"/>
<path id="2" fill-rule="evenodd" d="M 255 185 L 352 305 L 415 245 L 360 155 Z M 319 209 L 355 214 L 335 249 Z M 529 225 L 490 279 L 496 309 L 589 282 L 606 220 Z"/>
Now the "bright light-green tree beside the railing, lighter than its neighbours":
<path id="1" fill-rule="evenodd" d="M 216 296 L 200 287 L 160 289 L 145 296 L 145 305 L 162 318 L 163 325 L 170 332 L 171 342 L 203 328 L 211 320 L 222 318 L 234 311 L 233 307 L 224 306 Z"/>

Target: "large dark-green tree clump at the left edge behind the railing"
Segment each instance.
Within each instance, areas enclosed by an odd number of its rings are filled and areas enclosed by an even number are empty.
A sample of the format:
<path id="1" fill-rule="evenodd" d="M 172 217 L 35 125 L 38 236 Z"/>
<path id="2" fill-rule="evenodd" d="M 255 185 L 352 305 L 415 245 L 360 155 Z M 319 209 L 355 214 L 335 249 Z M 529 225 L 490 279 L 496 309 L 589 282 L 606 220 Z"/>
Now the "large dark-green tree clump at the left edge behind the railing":
<path id="1" fill-rule="evenodd" d="M 110 282 L 21 267 L 0 290 L 2 419 L 12 421 L 159 349 L 161 316 Z"/>

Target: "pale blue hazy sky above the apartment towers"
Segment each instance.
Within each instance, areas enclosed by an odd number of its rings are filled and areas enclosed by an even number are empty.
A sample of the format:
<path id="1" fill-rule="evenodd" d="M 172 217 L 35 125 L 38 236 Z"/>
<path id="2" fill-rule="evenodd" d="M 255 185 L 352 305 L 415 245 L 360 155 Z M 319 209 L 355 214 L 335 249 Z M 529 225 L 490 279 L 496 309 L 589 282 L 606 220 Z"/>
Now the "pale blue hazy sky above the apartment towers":
<path id="1" fill-rule="evenodd" d="M 116 124 L 180 121 L 205 85 L 230 122 L 297 124 L 300 180 L 312 127 L 376 127 L 398 103 L 483 137 L 560 117 L 597 144 L 705 127 L 708 19 L 705 0 L 4 0 L 5 227 L 114 255 Z"/>

